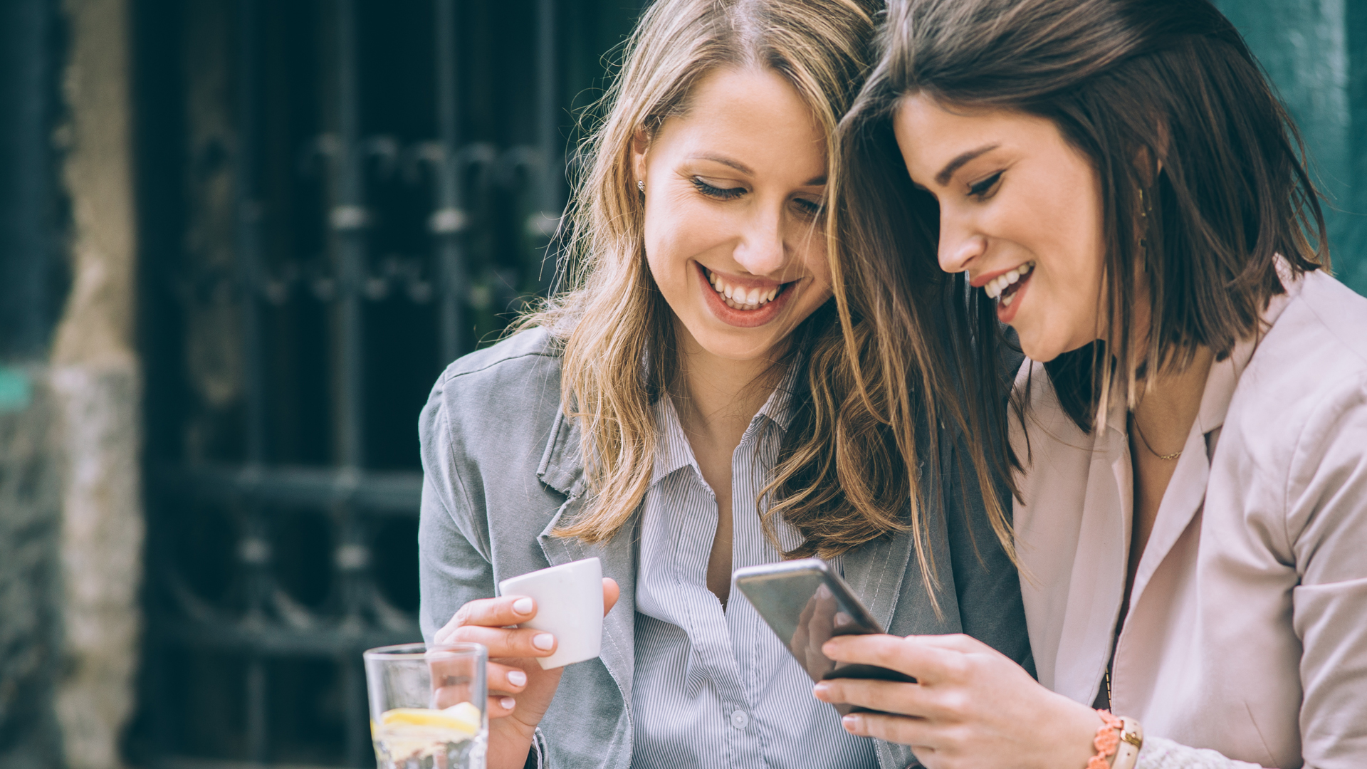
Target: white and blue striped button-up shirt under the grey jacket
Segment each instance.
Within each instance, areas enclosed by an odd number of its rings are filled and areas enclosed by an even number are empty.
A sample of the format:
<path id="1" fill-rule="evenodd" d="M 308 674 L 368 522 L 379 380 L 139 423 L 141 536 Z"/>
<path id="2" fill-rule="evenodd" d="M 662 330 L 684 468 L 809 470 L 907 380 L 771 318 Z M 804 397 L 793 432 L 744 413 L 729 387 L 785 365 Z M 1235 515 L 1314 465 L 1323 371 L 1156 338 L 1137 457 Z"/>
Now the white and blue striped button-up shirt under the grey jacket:
<path id="1" fill-rule="evenodd" d="M 790 371 L 731 456 L 731 565 L 772 564 L 755 499 L 789 420 Z M 641 510 L 636 584 L 633 769 L 876 768 L 874 740 L 850 736 L 749 601 L 723 612 L 707 588 L 716 497 L 703 479 L 668 397 L 656 405 L 660 443 Z M 794 547 L 797 530 L 776 523 Z"/>

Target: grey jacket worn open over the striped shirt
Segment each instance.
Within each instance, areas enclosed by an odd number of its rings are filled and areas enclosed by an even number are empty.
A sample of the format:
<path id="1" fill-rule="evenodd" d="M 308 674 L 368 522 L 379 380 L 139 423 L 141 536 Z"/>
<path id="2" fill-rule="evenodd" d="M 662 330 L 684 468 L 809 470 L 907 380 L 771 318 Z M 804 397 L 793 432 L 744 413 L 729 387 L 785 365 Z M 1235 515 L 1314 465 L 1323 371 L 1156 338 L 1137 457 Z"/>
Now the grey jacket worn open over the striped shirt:
<path id="1" fill-rule="evenodd" d="M 533 758 L 554 769 L 629 769 L 633 527 L 604 545 L 551 534 L 584 504 L 584 465 L 580 431 L 560 410 L 560 356 L 550 335 L 524 331 L 452 363 L 432 389 L 418 431 L 424 638 L 431 642 L 465 602 L 493 597 L 499 580 L 597 556 L 622 595 L 604 623 L 601 657 L 565 669 Z M 954 467 L 950 452 L 942 467 Z M 1016 569 L 991 531 L 976 483 L 960 488 L 946 475 L 936 491 L 946 514 L 931 521 L 930 542 L 943 616 L 931 608 L 908 534 L 848 553 L 846 582 L 891 634 L 966 632 L 1032 669 Z M 905 746 L 879 742 L 878 762 L 899 769 L 915 758 Z"/>

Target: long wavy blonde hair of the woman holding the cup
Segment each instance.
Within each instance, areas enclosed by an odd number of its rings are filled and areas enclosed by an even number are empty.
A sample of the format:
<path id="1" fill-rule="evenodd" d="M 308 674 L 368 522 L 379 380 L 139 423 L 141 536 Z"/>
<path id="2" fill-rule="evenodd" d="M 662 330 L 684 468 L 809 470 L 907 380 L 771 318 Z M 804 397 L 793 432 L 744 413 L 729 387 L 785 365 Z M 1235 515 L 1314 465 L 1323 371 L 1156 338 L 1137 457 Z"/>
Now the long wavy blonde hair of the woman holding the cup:
<path id="1" fill-rule="evenodd" d="M 868 64 L 879 7 L 876 0 L 658 0 L 625 44 L 621 70 L 592 112 L 597 123 L 580 146 L 566 289 L 517 326 L 550 328 L 563 345 L 562 402 L 582 431 L 589 501 L 565 521 L 562 536 L 601 542 L 630 521 L 651 483 L 653 402 L 671 393 L 679 368 L 674 316 L 647 265 L 633 137 L 653 135 L 681 115 L 708 73 L 766 67 L 793 85 L 826 134 L 827 159 L 838 159 L 838 120 Z M 837 177 L 831 168 L 828 185 Z M 823 216 L 830 233 L 830 212 Z M 771 499 L 766 531 L 776 545 L 772 521 L 782 516 L 804 536 L 787 557 L 830 557 L 912 530 L 930 587 L 919 457 L 930 460 L 928 471 L 938 467 L 936 435 L 908 426 L 898 410 L 910 408 L 906 398 L 890 404 L 872 395 L 882 390 L 869 382 L 882 382 L 890 361 L 869 357 L 867 327 L 845 333 L 839 315 L 848 309 L 827 302 L 793 333 L 801 350 L 789 360 L 804 360 L 807 374 L 761 493 Z M 916 368 L 916 361 L 891 364 Z M 760 499 L 756 505 L 761 509 Z"/>

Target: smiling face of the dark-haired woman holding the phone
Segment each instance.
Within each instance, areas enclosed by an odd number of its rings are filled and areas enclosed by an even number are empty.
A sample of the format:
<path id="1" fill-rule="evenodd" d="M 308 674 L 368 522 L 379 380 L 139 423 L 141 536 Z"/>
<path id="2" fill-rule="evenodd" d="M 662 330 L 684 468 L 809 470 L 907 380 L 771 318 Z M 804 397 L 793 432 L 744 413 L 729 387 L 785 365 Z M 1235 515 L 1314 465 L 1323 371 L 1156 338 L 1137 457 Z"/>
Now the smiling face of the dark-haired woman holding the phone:
<path id="1" fill-rule="evenodd" d="M 939 201 L 939 263 L 997 300 L 1025 354 L 1047 361 L 1095 341 L 1105 239 L 1092 163 L 1043 118 L 902 100 L 906 170 Z"/>

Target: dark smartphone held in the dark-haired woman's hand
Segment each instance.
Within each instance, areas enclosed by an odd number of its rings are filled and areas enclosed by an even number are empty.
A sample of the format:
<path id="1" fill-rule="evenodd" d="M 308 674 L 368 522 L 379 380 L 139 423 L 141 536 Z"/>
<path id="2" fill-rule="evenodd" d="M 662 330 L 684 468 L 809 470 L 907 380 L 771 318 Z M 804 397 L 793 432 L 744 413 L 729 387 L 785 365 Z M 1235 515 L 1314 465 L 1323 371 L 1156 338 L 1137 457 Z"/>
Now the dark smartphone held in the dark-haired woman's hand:
<path id="1" fill-rule="evenodd" d="M 874 614 L 820 558 L 746 566 L 731 575 L 755 610 L 778 634 L 813 681 L 827 679 L 882 679 L 916 683 L 916 679 L 876 665 L 837 665 L 822 654 L 822 644 L 838 635 L 884 632 Z M 856 710 L 837 705 L 841 714 Z"/>

